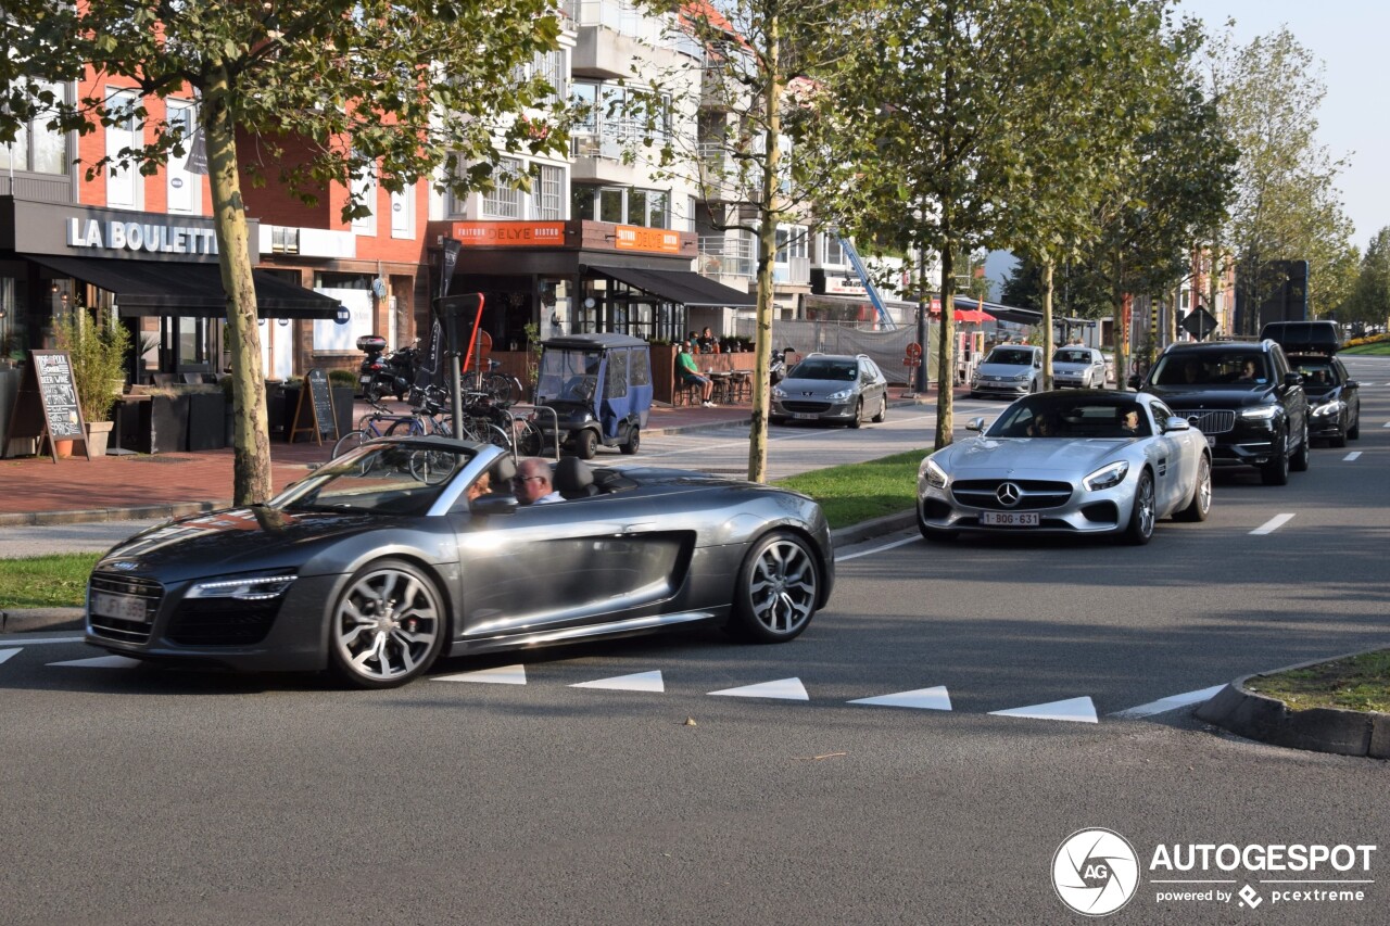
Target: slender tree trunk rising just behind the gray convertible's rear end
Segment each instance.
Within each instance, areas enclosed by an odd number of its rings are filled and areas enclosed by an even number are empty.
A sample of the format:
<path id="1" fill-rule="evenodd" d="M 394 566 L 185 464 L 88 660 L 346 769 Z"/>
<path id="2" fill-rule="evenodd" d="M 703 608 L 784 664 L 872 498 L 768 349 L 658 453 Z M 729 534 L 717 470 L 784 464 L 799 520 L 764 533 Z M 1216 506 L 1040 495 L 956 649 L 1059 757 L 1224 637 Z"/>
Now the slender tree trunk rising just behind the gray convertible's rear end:
<path id="1" fill-rule="evenodd" d="M 781 167 L 781 29 L 777 13 L 767 15 L 766 83 L 763 106 L 767 125 L 763 131 L 762 181 L 758 217 L 758 314 L 753 350 L 753 412 L 748 425 L 748 478 L 767 480 L 767 407 L 770 398 L 769 367 L 773 350 L 773 259 L 777 253 L 778 168 Z"/>

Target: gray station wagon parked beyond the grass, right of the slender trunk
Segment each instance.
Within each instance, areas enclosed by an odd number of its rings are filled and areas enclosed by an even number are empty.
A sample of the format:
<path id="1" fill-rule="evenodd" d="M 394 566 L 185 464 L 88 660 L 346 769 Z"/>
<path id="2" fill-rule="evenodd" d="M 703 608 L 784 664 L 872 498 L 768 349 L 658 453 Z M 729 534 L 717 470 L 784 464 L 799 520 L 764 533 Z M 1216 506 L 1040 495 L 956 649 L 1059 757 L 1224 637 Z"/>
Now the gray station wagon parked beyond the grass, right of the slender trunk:
<path id="1" fill-rule="evenodd" d="M 865 414 L 888 419 L 888 380 L 865 355 L 810 353 L 773 387 L 769 420 L 859 427 Z"/>

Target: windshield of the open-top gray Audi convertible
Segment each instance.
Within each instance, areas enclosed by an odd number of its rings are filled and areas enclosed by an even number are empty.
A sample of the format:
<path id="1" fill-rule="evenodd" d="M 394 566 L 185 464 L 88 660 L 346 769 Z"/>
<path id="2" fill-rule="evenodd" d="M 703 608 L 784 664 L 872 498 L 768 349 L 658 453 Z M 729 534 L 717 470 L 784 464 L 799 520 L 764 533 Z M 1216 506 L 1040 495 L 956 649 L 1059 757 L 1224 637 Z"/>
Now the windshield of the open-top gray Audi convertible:
<path id="1" fill-rule="evenodd" d="M 314 470 L 271 499 L 267 507 L 424 514 L 473 456 L 463 448 L 424 442 L 367 444 Z"/>

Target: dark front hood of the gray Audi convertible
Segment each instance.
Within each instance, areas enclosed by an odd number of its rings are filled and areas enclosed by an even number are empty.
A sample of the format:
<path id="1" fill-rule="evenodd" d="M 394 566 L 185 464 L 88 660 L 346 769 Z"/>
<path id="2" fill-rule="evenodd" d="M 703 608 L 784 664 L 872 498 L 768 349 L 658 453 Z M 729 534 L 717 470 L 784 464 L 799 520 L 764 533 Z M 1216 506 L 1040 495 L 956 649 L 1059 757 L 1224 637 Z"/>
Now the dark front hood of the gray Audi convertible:
<path id="1" fill-rule="evenodd" d="M 183 517 L 111 548 L 97 569 L 164 583 L 259 569 L 299 569 L 343 537 L 402 527 L 400 517 L 236 507 Z"/>

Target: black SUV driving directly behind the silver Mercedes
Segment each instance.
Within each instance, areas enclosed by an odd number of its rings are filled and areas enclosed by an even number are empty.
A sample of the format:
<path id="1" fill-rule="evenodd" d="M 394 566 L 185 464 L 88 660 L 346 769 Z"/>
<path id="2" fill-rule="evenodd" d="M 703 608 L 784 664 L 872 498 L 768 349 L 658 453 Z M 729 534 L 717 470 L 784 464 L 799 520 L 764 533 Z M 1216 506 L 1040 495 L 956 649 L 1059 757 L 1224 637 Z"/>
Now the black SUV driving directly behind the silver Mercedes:
<path id="1" fill-rule="evenodd" d="M 1258 467 L 1265 485 L 1308 469 L 1302 377 L 1273 341 L 1169 345 L 1144 391 L 1207 435 L 1215 467 Z"/>

